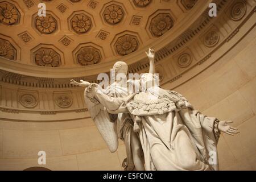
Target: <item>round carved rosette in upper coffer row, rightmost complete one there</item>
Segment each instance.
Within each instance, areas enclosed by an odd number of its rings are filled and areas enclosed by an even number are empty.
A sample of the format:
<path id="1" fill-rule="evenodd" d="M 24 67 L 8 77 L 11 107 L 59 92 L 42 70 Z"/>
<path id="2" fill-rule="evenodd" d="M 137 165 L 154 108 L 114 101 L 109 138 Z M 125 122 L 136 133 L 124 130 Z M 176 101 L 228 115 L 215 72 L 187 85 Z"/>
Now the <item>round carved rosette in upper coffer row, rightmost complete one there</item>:
<path id="1" fill-rule="evenodd" d="M 109 24 L 117 24 L 123 19 L 124 13 L 121 6 L 112 4 L 105 8 L 104 19 Z"/>

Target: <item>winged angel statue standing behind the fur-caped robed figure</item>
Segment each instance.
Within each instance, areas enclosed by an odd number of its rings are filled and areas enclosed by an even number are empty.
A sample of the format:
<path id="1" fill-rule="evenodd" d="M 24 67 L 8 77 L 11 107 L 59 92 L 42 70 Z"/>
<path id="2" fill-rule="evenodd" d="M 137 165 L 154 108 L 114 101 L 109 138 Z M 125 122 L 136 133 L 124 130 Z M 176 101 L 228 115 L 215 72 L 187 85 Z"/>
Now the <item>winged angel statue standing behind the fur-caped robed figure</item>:
<path id="1" fill-rule="evenodd" d="M 123 61 L 117 61 L 113 66 L 115 82 L 109 85 L 102 93 L 109 97 L 123 98 L 127 97 L 127 86 L 123 85 L 122 77 L 118 75 L 127 75 L 128 65 Z M 87 87 L 88 82 L 80 80 L 76 82 L 71 80 L 71 84 Z M 126 80 L 125 80 L 126 84 Z M 130 113 L 109 113 L 106 110 L 105 102 L 87 97 L 88 89 L 85 89 L 85 102 L 90 115 L 104 138 L 111 152 L 118 148 L 118 138 L 123 140 L 126 147 L 127 158 L 123 160 L 122 167 L 127 171 L 144 171 L 144 161 L 139 135 L 133 131 L 133 120 Z"/>

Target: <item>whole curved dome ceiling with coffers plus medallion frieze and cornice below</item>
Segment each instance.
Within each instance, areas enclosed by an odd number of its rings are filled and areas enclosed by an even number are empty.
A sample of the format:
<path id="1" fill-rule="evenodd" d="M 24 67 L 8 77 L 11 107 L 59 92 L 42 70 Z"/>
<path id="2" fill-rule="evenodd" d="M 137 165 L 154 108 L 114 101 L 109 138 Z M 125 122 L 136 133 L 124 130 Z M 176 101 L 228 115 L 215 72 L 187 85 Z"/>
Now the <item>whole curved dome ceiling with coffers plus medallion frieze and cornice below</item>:
<path id="1" fill-rule="evenodd" d="M 208 15 L 211 2 L 217 17 Z M 40 114 L 25 121 L 84 118 L 84 89 L 71 78 L 100 82 L 117 60 L 147 72 L 148 47 L 160 85 L 175 88 L 240 42 L 255 12 L 255 0 L 0 0 L 0 111 L 14 120 L 6 113 Z"/>

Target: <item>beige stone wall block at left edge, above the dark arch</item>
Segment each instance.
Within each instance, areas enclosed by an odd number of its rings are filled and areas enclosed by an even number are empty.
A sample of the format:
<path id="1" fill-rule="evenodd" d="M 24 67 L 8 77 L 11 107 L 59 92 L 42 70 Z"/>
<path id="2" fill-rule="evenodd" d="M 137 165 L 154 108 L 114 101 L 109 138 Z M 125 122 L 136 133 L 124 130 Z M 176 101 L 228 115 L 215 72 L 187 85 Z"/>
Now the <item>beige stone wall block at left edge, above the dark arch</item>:
<path id="1" fill-rule="evenodd" d="M 3 158 L 36 158 L 39 151 L 61 156 L 59 131 L 3 129 Z"/>

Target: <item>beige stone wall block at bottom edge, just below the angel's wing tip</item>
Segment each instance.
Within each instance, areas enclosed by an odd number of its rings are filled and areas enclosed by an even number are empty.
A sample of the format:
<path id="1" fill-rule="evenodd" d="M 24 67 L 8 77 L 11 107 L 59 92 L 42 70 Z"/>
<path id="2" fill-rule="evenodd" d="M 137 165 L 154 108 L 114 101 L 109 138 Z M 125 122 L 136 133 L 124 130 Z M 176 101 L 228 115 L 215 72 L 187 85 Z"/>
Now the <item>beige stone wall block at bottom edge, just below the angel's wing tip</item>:
<path id="1" fill-rule="evenodd" d="M 117 153 L 108 149 L 77 154 L 79 170 L 121 170 Z"/>

